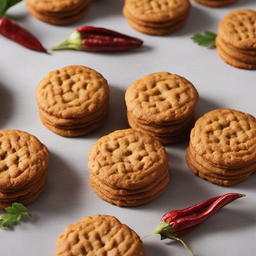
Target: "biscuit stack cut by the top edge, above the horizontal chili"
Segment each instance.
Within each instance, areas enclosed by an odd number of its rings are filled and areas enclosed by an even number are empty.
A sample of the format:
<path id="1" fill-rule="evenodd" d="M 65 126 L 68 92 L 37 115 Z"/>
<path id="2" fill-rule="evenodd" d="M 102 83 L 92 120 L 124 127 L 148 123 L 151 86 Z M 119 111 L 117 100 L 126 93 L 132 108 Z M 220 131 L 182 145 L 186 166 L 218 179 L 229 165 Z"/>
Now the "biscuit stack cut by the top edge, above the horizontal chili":
<path id="1" fill-rule="evenodd" d="M 31 15 L 54 25 L 76 22 L 86 15 L 91 0 L 26 0 Z"/>

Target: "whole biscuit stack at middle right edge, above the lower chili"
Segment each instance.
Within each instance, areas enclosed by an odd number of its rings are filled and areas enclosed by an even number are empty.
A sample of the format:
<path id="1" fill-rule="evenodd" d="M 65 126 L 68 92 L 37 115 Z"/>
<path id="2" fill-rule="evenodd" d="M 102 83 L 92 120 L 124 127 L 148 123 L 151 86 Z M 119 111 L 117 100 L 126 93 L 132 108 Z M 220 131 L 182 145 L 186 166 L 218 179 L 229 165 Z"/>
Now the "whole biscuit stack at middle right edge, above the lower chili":
<path id="1" fill-rule="evenodd" d="M 195 175 L 230 186 L 256 170 L 256 120 L 233 109 L 215 109 L 191 131 L 186 161 Z"/>

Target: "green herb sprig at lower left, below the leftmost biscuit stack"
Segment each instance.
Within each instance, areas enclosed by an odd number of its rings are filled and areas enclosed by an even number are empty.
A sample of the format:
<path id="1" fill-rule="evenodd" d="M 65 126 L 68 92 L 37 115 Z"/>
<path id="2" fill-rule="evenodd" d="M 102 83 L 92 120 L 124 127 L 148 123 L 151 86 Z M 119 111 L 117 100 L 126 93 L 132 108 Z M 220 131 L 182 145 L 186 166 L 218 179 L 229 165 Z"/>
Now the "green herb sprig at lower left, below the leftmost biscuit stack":
<path id="1" fill-rule="evenodd" d="M 7 214 L 0 217 L 0 228 L 11 227 L 21 220 L 21 215 L 31 216 L 28 209 L 19 203 L 13 203 L 12 206 L 5 208 Z"/>

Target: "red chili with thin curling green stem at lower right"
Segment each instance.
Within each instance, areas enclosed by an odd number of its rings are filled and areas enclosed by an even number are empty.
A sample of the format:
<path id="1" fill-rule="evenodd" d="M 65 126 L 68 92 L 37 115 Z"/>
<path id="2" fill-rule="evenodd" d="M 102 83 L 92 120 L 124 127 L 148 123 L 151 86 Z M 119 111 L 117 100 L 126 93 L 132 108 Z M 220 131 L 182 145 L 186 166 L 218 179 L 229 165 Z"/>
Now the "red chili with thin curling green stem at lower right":
<path id="1" fill-rule="evenodd" d="M 189 249 L 187 244 L 179 237 L 186 236 L 222 207 L 243 196 L 245 195 L 228 193 L 223 196 L 210 198 L 183 210 L 167 212 L 161 218 L 153 234 L 160 234 L 161 239 L 170 238 L 179 241 L 185 246 L 186 250 L 193 255 L 193 252 Z"/>

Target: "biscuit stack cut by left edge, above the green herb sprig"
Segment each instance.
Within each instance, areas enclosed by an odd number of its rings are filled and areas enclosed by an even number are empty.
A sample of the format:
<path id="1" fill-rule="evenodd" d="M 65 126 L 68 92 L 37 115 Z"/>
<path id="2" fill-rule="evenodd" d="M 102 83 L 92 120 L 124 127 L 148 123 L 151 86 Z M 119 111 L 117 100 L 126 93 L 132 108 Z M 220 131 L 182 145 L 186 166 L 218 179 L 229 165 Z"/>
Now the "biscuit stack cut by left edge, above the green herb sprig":
<path id="1" fill-rule="evenodd" d="M 49 151 L 35 136 L 0 131 L 0 210 L 35 201 L 45 189 L 48 164 Z"/>

